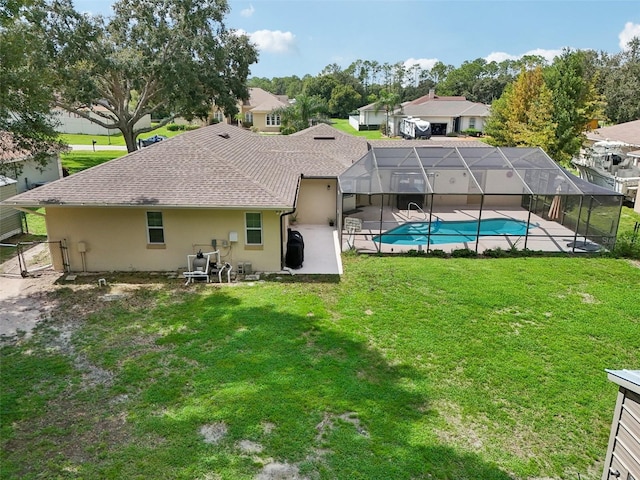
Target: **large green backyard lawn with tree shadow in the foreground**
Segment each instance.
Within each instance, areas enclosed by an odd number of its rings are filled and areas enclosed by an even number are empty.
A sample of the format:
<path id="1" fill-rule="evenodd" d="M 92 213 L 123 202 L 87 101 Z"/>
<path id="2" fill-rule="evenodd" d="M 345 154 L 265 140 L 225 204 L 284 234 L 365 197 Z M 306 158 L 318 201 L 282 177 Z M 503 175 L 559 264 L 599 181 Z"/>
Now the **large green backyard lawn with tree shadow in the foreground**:
<path id="1" fill-rule="evenodd" d="M 596 479 L 604 369 L 638 368 L 626 260 L 348 255 L 339 283 L 111 302 L 87 282 L 0 350 L 3 478 Z"/>

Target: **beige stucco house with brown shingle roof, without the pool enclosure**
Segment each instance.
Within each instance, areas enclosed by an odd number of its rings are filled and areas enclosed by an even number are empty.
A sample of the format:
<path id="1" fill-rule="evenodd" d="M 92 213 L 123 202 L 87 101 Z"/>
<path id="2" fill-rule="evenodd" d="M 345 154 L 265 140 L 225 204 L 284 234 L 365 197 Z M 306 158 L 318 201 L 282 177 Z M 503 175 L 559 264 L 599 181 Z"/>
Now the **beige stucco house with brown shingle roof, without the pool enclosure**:
<path id="1" fill-rule="evenodd" d="M 365 139 L 318 125 L 259 135 L 227 124 L 185 132 L 5 201 L 44 207 L 71 271 L 175 271 L 213 245 L 222 260 L 280 271 L 293 212 L 336 218 L 337 177 Z M 66 263 L 52 249 L 54 268 Z"/>

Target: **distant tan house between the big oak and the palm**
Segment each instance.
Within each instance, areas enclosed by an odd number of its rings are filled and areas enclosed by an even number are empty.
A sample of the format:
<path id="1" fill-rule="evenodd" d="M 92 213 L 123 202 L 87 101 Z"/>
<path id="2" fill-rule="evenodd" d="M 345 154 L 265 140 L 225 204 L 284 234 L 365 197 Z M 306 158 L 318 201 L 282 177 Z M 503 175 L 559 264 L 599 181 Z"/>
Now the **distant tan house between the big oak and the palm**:
<path id="1" fill-rule="evenodd" d="M 238 102 L 238 119 L 225 118 L 221 110 L 214 108 L 213 118 L 218 122 L 240 123 L 255 127 L 260 132 L 280 132 L 280 115 L 275 110 L 289 106 L 286 95 L 274 95 L 262 88 L 250 88 L 249 99 Z"/>

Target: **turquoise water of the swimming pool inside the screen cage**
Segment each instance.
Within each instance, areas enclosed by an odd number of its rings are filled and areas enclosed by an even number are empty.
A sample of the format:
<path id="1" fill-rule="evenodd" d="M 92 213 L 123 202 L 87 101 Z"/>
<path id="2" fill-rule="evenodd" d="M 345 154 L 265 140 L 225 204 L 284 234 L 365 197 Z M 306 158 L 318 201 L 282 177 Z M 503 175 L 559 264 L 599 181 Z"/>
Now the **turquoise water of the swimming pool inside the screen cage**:
<path id="1" fill-rule="evenodd" d="M 531 228 L 536 225 L 531 224 Z M 503 218 L 480 220 L 480 236 L 525 235 L 527 222 Z M 429 243 L 475 242 L 478 234 L 477 220 L 436 221 L 431 225 Z M 373 237 L 374 242 L 392 245 L 425 245 L 429 236 L 429 222 L 409 222 Z"/>

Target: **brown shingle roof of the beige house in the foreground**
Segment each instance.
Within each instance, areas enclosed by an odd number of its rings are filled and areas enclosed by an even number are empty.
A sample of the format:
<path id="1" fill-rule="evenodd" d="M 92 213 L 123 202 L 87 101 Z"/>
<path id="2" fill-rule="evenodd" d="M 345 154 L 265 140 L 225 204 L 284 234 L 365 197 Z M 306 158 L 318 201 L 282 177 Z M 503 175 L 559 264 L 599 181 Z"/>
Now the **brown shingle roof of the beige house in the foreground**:
<path id="1" fill-rule="evenodd" d="M 313 132 L 334 140 L 320 140 Z M 328 126 L 261 136 L 219 123 L 185 132 L 11 198 L 9 204 L 288 208 L 298 179 L 335 177 L 367 152 L 366 140 Z"/>

